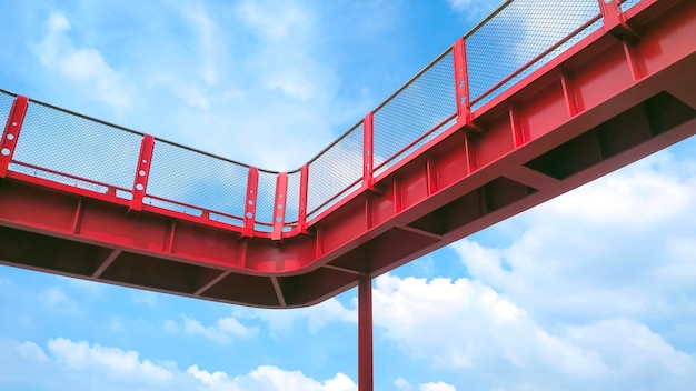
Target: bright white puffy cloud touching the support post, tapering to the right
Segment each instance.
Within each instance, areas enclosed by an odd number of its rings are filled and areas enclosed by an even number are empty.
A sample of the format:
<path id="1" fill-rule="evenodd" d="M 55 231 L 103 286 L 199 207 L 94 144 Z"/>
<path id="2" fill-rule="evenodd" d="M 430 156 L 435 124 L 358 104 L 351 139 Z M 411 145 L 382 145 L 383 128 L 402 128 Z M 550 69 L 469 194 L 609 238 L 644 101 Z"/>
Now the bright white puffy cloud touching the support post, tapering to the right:
<path id="1" fill-rule="evenodd" d="M 459 279 L 377 279 L 375 322 L 410 355 L 450 369 L 488 371 L 504 361 L 567 375 L 606 370 L 599 357 L 540 329 L 490 287 Z"/>

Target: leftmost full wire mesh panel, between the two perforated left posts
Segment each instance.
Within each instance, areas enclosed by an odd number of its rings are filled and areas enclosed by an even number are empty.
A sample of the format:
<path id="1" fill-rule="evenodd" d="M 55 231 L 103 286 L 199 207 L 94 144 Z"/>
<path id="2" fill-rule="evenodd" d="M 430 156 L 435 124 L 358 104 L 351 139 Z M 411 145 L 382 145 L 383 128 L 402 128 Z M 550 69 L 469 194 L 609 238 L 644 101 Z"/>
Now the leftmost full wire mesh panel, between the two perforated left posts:
<path id="1" fill-rule="evenodd" d="M 131 189 L 141 140 L 141 134 L 43 103 L 30 102 L 12 169 L 96 191 L 106 191 L 106 188 L 87 184 L 89 181 Z M 87 181 L 62 177 L 60 173 Z"/>

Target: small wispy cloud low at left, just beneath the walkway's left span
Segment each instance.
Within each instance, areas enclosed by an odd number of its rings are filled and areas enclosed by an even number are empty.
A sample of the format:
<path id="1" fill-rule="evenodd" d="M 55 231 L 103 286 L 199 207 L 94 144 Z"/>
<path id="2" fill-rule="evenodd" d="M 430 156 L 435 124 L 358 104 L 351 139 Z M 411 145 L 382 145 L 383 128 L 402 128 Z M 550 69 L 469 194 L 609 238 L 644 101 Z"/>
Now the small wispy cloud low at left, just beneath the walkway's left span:
<path id="1" fill-rule="evenodd" d="M 200 335 L 221 345 L 231 343 L 232 339 L 248 339 L 258 333 L 258 328 L 246 327 L 231 317 L 218 319 L 211 325 L 203 325 L 185 314 L 181 315 L 181 325 L 172 320 L 165 321 L 165 331 L 169 333 L 182 331 L 188 335 Z"/>

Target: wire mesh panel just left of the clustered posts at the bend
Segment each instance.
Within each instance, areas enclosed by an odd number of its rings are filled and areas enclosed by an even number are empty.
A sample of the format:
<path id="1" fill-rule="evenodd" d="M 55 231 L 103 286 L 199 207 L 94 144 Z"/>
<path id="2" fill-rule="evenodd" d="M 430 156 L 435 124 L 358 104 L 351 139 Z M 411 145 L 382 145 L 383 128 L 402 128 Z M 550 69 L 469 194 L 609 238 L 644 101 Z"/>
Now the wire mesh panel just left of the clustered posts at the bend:
<path id="1" fill-rule="evenodd" d="M 248 173 L 246 166 L 156 140 L 147 189 L 149 197 L 143 202 L 193 215 L 200 215 L 203 209 L 231 214 L 237 219 L 217 213 L 211 213 L 210 218 L 240 225 Z"/>

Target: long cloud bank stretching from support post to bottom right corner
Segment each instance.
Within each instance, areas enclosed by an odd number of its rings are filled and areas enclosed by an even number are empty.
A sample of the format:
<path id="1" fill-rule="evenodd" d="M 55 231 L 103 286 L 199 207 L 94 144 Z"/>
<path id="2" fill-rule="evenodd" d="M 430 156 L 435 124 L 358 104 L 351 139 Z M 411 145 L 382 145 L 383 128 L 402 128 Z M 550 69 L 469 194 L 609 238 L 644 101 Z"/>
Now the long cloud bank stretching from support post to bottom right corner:
<path id="1" fill-rule="evenodd" d="M 374 301 L 375 322 L 387 339 L 419 361 L 464 370 L 480 388 L 613 390 L 650 382 L 657 390 L 696 380 L 696 360 L 643 323 L 615 318 L 557 324 L 550 332 L 509 299 L 468 279 L 387 274 L 377 279 Z M 402 379 L 395 385 L 412 389 Z"/>

